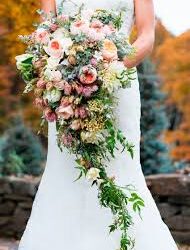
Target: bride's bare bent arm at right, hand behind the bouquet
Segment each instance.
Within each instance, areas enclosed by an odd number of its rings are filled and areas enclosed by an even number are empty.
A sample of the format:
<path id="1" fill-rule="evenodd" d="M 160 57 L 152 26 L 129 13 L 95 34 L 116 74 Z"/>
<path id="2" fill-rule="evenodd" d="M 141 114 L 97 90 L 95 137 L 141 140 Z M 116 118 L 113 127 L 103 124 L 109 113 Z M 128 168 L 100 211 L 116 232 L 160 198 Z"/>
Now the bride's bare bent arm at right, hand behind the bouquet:
<path id="1" fill-rule="evenodd" d="M 134 0 L 135 19 L 138 36 L 133 46 L 136 48 L 134 58 L 124 58 L 126 67 L 138 65 L 151 51 L 155 38 L 155 16 L 153 0 Z"/>

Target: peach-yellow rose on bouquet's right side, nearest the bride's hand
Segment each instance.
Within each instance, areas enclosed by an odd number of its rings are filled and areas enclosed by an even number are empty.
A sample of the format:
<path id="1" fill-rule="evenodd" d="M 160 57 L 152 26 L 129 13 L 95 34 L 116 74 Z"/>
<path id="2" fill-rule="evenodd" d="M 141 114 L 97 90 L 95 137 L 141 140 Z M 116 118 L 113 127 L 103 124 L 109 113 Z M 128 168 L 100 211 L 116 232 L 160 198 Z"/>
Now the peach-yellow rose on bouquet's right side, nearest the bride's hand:
<path id="1" fill-rule="evenodd" d="M 112 61 L 118 58 L 117 47 L 109 39 L 105 39 L 103 42 L 102 56 L 106 61 Z"/>

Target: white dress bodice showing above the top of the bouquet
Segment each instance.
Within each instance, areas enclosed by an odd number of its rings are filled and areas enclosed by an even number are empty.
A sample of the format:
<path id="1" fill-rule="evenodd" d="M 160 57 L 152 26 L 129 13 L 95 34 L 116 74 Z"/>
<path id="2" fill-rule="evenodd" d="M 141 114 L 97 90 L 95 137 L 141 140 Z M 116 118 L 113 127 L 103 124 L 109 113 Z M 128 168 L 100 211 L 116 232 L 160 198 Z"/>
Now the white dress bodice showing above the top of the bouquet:
<path id="1" fill-rule="evenodd" d="M 68 14 L 75 11 L 77 6 L 84 3 L 89 9 L 125 9 L 124 22 L 121 31 L 126 35 L 130 34 L 134 22 L 134 0 L 56 0 L 57 6 L 63 6 L 63 12 Z"/>

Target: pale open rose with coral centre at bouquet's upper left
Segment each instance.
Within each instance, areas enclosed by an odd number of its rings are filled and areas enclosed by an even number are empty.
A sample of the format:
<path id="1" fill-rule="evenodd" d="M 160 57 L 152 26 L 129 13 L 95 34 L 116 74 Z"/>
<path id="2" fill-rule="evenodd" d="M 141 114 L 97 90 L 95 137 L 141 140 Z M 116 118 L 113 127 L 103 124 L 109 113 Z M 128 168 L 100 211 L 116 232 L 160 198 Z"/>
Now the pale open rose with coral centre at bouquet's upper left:
<path id="1" fill-rule="evenodd" d="M 44 46 L 44 50 L 52 58 L 58 59 L 63 57 L 63 48 L 58 39 L 52 39 L 47 47 Z"/>

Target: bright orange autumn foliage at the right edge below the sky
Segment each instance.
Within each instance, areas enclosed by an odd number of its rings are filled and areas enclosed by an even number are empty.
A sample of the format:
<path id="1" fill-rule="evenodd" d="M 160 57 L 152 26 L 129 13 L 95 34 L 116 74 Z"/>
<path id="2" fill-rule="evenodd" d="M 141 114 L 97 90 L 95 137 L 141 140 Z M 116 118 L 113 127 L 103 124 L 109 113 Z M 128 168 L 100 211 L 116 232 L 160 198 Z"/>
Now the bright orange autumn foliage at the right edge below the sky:
<path id="1" fill-rule="evenodd" d="M 190 161 L 190 31 L 167 39 L 156 53 L 158 69 L 163 77 L 163 90 L 168 93 L 168 104 L 175 105 L 182 120 L 166 138 L 173 145 L 172 156 Z"/>

